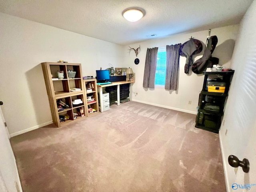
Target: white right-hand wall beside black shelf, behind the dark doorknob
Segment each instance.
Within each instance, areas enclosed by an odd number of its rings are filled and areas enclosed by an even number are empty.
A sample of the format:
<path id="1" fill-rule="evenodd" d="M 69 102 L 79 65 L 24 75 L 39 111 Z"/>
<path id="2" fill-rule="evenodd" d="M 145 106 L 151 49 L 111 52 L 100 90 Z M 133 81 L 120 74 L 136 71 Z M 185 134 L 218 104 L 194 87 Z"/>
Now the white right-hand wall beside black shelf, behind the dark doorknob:
<path id="1" fill-rule="evenodd" d="M 256 1 L 247 10 L 242 22 L 232 57 L 235 70 L 226 104 L 220 142 L 228 191 L 232 184 L 256 184 Z M 228 156 L 235 155 L 250 162 L 249 173 L 228 164 Z M 255 191 L 252 186 L 250 191 Z M 239 189 L 242 191 L 242 189 Z M 244 190 L 245 191 L 245 190 Z M 247 190 L 246 190 L 247 191 Z"/>

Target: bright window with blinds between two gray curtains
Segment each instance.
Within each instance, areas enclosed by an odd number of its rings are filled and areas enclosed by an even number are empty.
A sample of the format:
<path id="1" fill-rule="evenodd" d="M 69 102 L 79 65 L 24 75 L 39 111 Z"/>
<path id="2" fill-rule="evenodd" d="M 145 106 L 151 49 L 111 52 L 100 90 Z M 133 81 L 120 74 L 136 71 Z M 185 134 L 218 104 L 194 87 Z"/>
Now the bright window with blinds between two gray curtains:
<path id="1" fill-rule="evenodd" d="M 164 87 L 166 74 L 166 48 L 158 48 L 155 86 Z"/>

